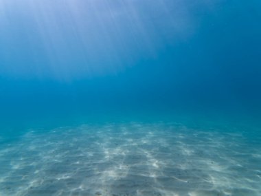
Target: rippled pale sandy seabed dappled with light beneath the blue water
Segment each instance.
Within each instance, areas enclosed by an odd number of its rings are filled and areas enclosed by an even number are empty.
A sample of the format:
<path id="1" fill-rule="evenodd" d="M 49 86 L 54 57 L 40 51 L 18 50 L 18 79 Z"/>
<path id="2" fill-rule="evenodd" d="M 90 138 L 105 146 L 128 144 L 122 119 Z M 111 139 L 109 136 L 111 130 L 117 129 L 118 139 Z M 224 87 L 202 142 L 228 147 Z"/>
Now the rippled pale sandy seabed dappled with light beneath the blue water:
<path id="1" fill-rule="evenodd" d="M 261 195 L 241 132 L 141 122 L 29 131 L 0 146 L 0 195 Z"/>

